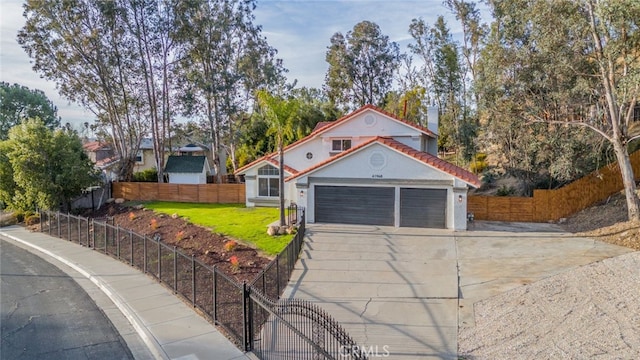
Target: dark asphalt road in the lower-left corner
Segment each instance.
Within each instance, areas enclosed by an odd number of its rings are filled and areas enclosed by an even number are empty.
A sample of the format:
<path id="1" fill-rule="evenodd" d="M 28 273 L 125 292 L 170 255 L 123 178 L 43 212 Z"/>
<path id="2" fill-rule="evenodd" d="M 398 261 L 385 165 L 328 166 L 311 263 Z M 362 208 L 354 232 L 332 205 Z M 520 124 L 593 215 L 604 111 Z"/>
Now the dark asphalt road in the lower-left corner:
<path id="1" fill-rule="evenodd" d="M 0 240 L 0 359 L 133 359 L 87 293 L 40 257 Z"/>

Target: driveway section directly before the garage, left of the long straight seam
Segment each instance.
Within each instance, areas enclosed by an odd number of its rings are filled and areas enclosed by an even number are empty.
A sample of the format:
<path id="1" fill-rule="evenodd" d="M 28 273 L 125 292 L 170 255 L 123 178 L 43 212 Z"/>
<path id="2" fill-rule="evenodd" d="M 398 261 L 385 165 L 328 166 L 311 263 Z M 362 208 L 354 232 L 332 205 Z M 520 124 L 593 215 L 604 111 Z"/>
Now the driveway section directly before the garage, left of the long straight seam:
<path id="1" fill-rule="evenodd" d="M 285 296 L 333 315 L 370 358 L 455 358 L 453 232 L 314 224 Z"/>

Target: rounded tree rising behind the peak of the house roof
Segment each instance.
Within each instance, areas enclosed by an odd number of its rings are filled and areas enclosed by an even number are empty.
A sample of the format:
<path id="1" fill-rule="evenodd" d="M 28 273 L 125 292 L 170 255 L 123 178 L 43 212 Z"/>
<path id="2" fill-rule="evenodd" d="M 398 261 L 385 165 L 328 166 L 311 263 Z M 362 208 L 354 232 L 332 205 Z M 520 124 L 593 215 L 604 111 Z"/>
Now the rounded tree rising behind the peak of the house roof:
<path id="1" fill-rule="evenodd" d="M 398 44 L 383 35 L 377 24 L 362 21 L 346 37 L 335 33 L 325 58 L 327 96 L 348 110 L 366 104 L 382 106 L 402 57 Z"/>

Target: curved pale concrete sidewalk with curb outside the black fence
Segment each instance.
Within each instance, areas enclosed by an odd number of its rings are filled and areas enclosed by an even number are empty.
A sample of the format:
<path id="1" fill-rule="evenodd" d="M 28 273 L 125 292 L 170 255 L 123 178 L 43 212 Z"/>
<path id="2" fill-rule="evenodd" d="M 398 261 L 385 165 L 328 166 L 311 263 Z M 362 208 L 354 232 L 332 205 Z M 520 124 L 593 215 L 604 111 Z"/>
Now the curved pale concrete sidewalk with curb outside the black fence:
<path id="1" fill-rule="evenodd" d="M 120 332 L 136 359 L 255 359 L 139 270 L 77 244 L 0 228 L 0 238 L 59 267 L 82 286 Z"/>

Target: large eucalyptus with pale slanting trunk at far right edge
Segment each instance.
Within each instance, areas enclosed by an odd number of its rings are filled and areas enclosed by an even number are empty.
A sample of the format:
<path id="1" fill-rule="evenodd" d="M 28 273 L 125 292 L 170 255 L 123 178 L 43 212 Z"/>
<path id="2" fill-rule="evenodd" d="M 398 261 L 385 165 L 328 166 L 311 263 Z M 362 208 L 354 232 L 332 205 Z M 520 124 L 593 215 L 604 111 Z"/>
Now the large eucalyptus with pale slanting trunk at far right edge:
<path id="1" fill-rule="evenodd" d="M 627 147 L 637 138 L 632 119 L 640 87 L 640 3 L 489 5 L 495 20 L 481 75 L 487 116 L 593 130 L 611 144 L 618 160 L 629 220 L 640 220 Z"/>

